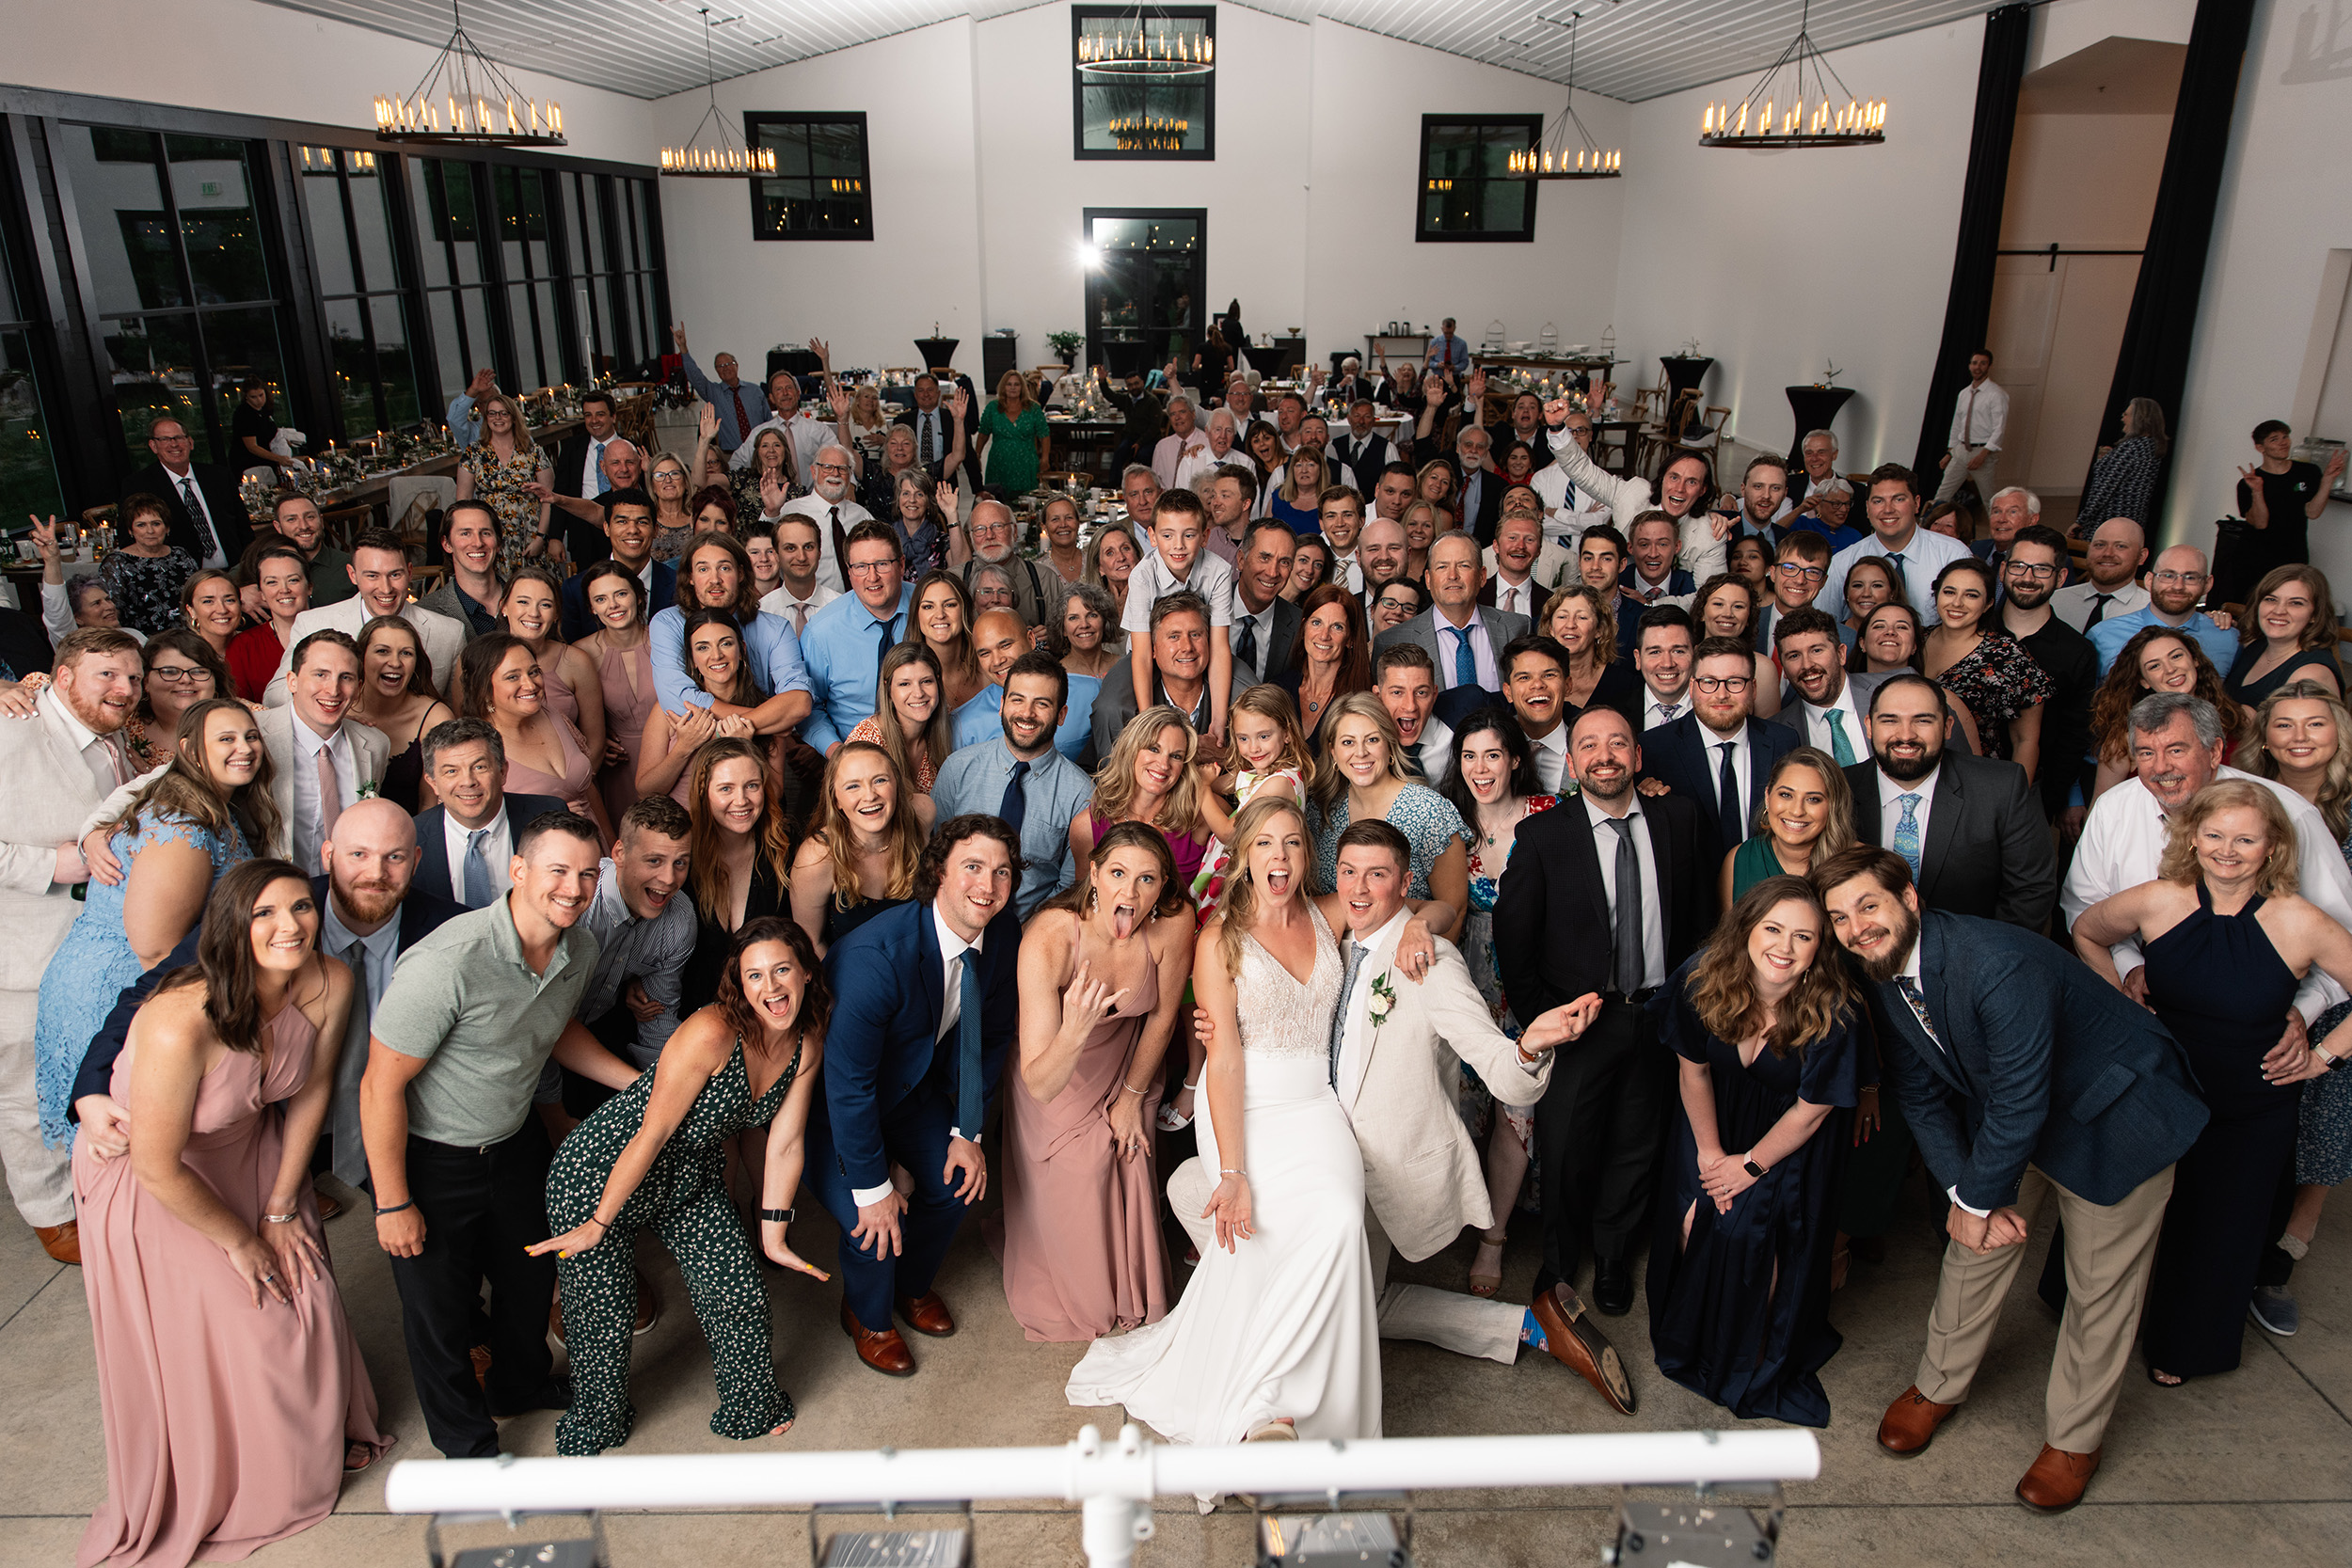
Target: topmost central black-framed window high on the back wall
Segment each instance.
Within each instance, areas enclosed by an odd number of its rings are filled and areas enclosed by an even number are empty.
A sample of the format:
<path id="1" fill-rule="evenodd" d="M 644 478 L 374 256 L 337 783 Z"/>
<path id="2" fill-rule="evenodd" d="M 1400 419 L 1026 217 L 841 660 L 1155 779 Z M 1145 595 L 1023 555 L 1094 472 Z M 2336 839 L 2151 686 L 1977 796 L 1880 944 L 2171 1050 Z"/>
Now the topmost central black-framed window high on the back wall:
<path id="1" fill-rule="evenodd" d="M 1178 61 L 1127 68 L 1110 56 Z M 1103 61 L 1103 63 L 1091 63 Z M 1202 68 L 1207 66 L 1207 68 Z M 1070 7 L 1070 155 L 1134 160 L 1216 158 L 1216 7 Z"/>

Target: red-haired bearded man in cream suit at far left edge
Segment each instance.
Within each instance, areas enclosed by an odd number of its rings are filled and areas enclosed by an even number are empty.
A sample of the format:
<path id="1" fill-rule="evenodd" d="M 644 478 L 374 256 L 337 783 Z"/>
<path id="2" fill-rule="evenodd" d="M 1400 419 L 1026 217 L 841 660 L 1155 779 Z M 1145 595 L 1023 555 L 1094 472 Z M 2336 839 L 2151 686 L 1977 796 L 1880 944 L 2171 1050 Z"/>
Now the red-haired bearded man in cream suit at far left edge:
<path id="1" fill-rule="evenodd" d="M 40 1140 L 33 1095 L 33 1016 L 40 973 L 82 905 L 71 889 L 89 879 L 75 846 L 82 820 L 129 778 L 122 724 L 139 705 L 139 642 L 87 625 L 56 644 L 56 675 L 33 717 L 0 724 L 0 1164 L 9 1197 L 42 1251 L 80 1262 L 73 1222 L 73 1157 Z"/>

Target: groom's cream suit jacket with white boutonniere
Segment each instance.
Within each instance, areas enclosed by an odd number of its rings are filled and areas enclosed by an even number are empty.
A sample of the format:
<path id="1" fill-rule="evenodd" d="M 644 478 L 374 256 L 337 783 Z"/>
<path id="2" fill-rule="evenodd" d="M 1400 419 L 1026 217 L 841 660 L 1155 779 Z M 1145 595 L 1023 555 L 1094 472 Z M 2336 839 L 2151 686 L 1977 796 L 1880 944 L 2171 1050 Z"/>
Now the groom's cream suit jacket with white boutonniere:
<path id="1" fill-rule="evenodd" d="M 1534 1105 L 1552 1081 L 1552 1053 L 1534 1067 L 1519 1063 L 1519 1046 L 1496 1027 L 1454 943 L 1437 938 L 1437 961 L 1421 985 L 1397 971 L 1395 957 L 1390 938 L 1357 973 L 1348 1006 L 1350 1027 L 1367 1032 L 1364 1074 L 1352 1086 L 1341 1081 L 1341 1105 L 1364 1152 L 1364 1199 L 1397 1253 L 1418 1262 L 1451 1246 L 1463 1225 L 1494 1225 L 1486 1171 L 1454 1107 L 1456 1060 L 1470 1063 L 1496 1100 Z M 1388 976 L 1395 1006 L 1374 1025 L 1378 976 Z"/>

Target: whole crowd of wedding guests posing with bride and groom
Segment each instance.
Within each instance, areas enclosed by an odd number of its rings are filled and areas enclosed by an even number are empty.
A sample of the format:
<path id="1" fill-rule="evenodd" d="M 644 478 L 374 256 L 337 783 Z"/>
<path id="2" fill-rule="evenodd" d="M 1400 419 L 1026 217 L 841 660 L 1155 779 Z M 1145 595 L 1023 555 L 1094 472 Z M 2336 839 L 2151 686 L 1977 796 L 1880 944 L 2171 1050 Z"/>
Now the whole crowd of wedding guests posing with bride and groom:
<path id="1" fill-rule="evenodd" d="M 0 686 L 0 1159 L 99 1324 L 85 1561 L 245 1554 L 386 1450 L 343 1206 L 452 1458 L 539 1408 L 630 1441 L 640 1237 L 720 1436 L 800 1415 L 779 1291 L 920 1375 L 903 1331 L 990 1309 L 941 1291 L 974 1211 L 1021 1331 L 1087 1345 L 1068 1399 L 1174 1441 L 1378 1436 L 1381 1338 L 1632 1415 L 1637 1302 L 1658 1375 L 1820 1427 L 1837 1293 L 1922 1204 L 1893 1455 L 2063 1225 L 2030 1507 L 2136 1340 L 2178 1387 L 2296 1331 L 2352 1168 L 2352 715 L 2284 428 L 2225 611 L 2147 559 L 2147 400 L 2077 567 L 2030 491 L 1971 548 L 1828 430 L 1611 473 L 1451 322 L 1334 381 L 1343 433 L 1223 343 L 1101 388 L 1091 524 L 1030 517 L 1018 371 L 891 418 L 823 343 L 809 386 L 687 357 L 691 454 L 590 393 L 553 456 L 485 374 L 421 599 L 400 536 L 249 520 L 155 423 Z M 1938 498 L 2004 416 L 1978 355 Z M 1454 1248 L 1468 1291 L 1390 1279 Z M 256 1415 L 174 1399 L 223 1380 Z"/>

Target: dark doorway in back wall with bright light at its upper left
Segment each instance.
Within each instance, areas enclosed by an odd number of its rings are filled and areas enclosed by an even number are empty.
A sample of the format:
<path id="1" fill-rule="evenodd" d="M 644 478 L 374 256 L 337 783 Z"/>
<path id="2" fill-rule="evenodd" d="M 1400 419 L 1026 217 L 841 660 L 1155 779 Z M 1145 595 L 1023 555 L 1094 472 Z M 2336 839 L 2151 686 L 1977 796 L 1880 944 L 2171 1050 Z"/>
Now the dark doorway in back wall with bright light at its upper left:
<path id="1" fill-rule="evenodd" d="M 1087 209 L 1087 357 L 1112 376 L 1192 362 L 1209 280 L 1202 207 Z"/>

